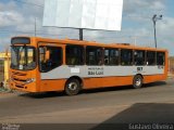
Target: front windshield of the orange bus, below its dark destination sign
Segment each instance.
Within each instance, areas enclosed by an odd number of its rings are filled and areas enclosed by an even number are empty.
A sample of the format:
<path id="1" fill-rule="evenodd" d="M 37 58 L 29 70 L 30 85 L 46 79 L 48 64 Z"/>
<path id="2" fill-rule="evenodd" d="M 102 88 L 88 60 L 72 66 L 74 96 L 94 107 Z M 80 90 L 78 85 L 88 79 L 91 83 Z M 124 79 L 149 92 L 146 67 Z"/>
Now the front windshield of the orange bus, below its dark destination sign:
<path id="1" fill-rule="evenodd" d="M 35 48 L 27 46 L 11 47 L 11 68 L 28 70 L 36 67 Z"/>

